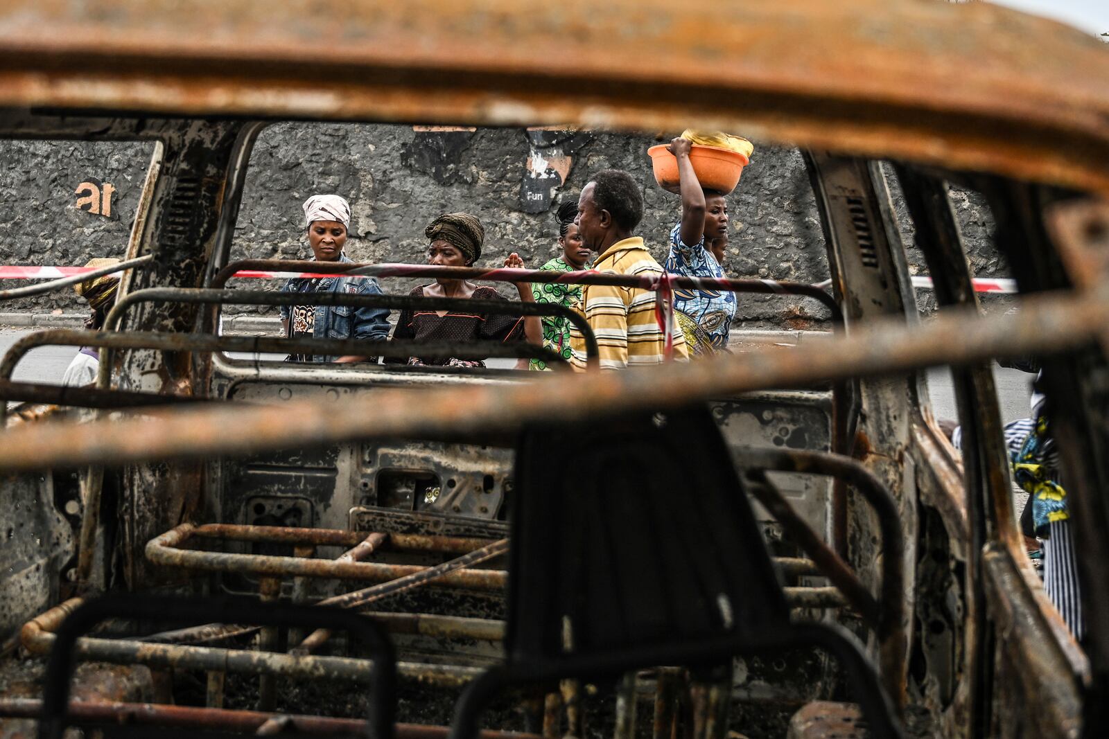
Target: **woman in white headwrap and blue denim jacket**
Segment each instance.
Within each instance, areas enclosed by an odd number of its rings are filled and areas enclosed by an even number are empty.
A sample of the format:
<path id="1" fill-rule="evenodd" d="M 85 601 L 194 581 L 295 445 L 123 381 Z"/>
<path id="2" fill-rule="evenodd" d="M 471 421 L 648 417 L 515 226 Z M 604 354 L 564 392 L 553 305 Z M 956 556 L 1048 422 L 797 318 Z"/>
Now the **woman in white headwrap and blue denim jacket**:
<path id="1" fill-rule="evenodd" d="M 304 202 L 308 245 L 316 261 L 350 261 L 343 254 L 350 226 L 350 205 L 338 195 L 313 195 Z M 370 277 L 294 278 L 282 290 L 289 292 L 347 292 L 380 295 L 381 287 Z M 289 338 L 369 339 L 384 341 L 389 335 L 389 311 L 354 306 L 282 306 L 282 326 Z M 358 362 L 376 357 L 347 355 L 289 355 L 288 361 Z"/>

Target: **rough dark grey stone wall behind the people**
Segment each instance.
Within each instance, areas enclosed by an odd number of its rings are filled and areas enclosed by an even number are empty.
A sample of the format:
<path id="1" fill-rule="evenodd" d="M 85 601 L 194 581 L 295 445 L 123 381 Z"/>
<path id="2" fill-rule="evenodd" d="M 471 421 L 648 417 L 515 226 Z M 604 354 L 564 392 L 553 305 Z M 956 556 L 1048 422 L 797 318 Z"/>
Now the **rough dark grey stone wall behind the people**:
<path id="1" fill-rule="evenodd" d="M 467 211 L 486 226 L 481 264 L 500 264 L 518 252 L 528 266 L 538 267 L 558 252 L 557 204 L 577 201 L 591 173 L 618 167 L 642 184 L 645 215 L 639 233 L 662 261 L 680 204 L 651 175 L 647 148 L 655 143 L 651 136 L 607 132 L 274 124 L 251 158 L 233 256 L 308 257 L 301 203 L 313 193 L 334 192 L 353 206 L 347 252 L 356 260 L 423 263 L 425 225 L 440 213 Z M 826 279 L 823 236 L 800 153 L 755 144 L 751 165 L 729 198 L 729 274 Z M 0 264 L 82 265 L 96 256 L 121 256 L 150 155 L 146 144 L 0 141 L 0 198 L 7 205 L 0 212 Z M 981 199 L 954 191 L 953 201 L 973 270 L 1006 276 Z M 899 196 L 896 203 L 904 216 Z M 910 237 L 904 218 L 903 227 Z M 912 244 L 909 260 L 917 274 L 926 273 Z M 386 289 L 407 291 L 408 286 L 389 280 Z M 918 298 L 930 307 L 930 295 Z M 83 310 L 71 290 L 0 308 L 12 314 Z M 736 328 L 802 330 L 822 318 L 823 310 L 804 299 L 747 296 Z"/>

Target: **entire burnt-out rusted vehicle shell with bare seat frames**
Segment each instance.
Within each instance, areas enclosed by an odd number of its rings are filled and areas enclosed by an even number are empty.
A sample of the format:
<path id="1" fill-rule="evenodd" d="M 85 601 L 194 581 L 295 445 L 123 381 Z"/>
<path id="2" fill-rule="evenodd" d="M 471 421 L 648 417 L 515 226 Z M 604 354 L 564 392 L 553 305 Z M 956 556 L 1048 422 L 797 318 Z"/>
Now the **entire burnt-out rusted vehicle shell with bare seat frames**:
<path id="1" fill-rule="evenodd" d="M 0 443 L 0 730 L 1100 736 L 1107 54 L 985 3 L 711 23 L 622 1 L 7 3 L 0 135 L 156 146 L 110 330 L 32 333 L 0 363 L 23 402 Z M 252 146 L 288 120 L 700 121 L 800 146 L 830 290 L 716 287 L 822 300 L 835 336 L 541 378 L 244 360 L 370 351 L 218 331 L 223 306 L 283 299 L 228 288 L 238 271 L 318 268 L 230 259 Z M 1019 314 L 979 315 L 948 183 L 988 202 Z M 98 386 L 8 379 L 47 343 L 101 347 Z M 1014 524 L 989 361 L 1025 355 L 1062 448 L 1081 645 Z M 922 383 L 945 365 L 962 458 Z"/>

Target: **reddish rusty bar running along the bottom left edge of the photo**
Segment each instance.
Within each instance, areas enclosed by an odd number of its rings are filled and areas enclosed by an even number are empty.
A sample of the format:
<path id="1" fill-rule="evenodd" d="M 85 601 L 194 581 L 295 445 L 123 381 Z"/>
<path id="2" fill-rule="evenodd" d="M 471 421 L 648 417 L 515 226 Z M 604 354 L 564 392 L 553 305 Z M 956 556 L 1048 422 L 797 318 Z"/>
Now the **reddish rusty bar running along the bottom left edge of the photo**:
<path id="1" fill-rule="evenodd" d="M 34 698 L 0 698 L 0 717 L 37 719 L 42 714 L 42 701 Z M 252 733 L 274 714 L 258 711 L 223 710 L 193 706 L 165 706 L 160 704 L 128 704 L 108 701 L 74 701 L 67 711 L 77 725 L 136 725 L 183 729 L 220 729 Z M 366 722 L 353 718 L 329 716 L 284 715 L 298 733 L 340 733 L 356 736 L 366 730 Z M 447 739 L 445 726 L 397 723 L 397 739 Z M 538 735 L 516 731 L 482 731 L 481 739 L 540 739 Z"/>

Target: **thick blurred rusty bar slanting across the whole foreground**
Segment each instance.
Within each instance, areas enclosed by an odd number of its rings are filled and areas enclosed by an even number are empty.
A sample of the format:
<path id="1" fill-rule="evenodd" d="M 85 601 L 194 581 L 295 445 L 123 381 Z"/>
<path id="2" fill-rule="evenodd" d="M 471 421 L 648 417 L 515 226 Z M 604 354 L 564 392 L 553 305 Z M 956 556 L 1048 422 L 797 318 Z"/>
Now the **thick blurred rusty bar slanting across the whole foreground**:
<path id="1" fill-rule="evenodd" d="M 592 420 L 602 413 L 644 407 L 665 410 L 739 392 L 802 388 L 988 357 L 1050 353 L 1085 345 L 1106 324 L 1109 299 L 1040 295 L 1024 299 L 1019 316 L 978 316 L 956 308 L 912 327 L 899 317 L 874 319 L 856 325 L 843 338 L 802 343 L 790 351 L 670 362 L 635 372 L 551 374 L 516 384 L 420 389 L 418 393 L 380 389 L 342 407 L 315 401 L 215 406 L 187 413 L 162 410 L 142 419 L 41 424 L 0 434 L 0 472 L 234 456 L 436 433 L 505 432 L 531 420 Z M 953 336 L 959 340 L 952 341 Z M 297 423 L 287 423 L 293 417 Z"/>

